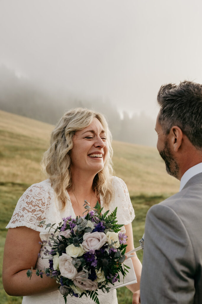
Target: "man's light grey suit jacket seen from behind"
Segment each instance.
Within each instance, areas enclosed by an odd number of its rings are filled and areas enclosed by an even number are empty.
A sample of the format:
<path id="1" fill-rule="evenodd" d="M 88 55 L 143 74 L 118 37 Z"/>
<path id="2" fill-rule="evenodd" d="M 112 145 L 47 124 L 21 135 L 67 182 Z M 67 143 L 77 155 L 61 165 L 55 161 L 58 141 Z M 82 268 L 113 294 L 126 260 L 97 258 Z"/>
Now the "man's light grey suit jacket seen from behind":
<path id="1" fill-rule="evenodd" d="M 202 173 L 147 212 L 141 304 L 202 303 Z"/>

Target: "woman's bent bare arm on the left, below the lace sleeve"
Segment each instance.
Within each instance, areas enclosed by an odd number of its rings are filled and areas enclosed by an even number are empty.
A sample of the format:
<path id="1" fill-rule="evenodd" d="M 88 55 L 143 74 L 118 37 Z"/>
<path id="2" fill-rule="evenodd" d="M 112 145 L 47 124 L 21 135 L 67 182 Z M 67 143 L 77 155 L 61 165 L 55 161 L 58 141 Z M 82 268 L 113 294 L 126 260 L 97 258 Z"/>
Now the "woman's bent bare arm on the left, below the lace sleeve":
<path id="1" fill-rule="evenodd" d="M 9 228 L 4 249 L 2 279 L 8 295 L 22 296 L 42 294 L 57 290 L 56 280 L 32 275 L 27 278 L 28 269 L 35 269 L 40 251 L 39 232 L 27 227 Z"/>

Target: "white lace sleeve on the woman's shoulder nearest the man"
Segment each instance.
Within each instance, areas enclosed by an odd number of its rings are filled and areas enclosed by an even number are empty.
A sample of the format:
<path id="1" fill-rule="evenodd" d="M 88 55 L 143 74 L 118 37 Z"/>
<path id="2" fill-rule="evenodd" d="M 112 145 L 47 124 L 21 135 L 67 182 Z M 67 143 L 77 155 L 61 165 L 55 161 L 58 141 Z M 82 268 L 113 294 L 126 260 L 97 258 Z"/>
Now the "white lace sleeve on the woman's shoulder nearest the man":
<path id="1" fill-rule="evenodd" d="M 135 218 L 135 213 L 127 186 L 121 178 L 116 176 L 113 177 L 112 185 L 115 192 L 115 204 L 118 207 L 117 220 L 124 225 L 130 224 Z"/>

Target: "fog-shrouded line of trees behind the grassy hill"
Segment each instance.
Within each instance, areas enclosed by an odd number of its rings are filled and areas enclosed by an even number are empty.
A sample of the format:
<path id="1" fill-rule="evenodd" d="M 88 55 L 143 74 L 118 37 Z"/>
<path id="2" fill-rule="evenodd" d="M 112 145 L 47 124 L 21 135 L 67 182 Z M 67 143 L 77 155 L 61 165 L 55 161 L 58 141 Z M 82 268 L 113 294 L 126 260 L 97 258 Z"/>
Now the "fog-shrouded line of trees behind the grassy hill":
<path id="1" fill-rule="evenodd" d="M 109 101 L 102 98 L 72 96 L 64 92 L 52 93 L 26 78 L 18 77 L 5 66 L 0 67 L 0 109 L 55 124 L 67 109 L 86 107 L 106 115 L 113 139 L 146 146 L 156 145 L 155 122 L 144 113 L 123 117 Z"/>

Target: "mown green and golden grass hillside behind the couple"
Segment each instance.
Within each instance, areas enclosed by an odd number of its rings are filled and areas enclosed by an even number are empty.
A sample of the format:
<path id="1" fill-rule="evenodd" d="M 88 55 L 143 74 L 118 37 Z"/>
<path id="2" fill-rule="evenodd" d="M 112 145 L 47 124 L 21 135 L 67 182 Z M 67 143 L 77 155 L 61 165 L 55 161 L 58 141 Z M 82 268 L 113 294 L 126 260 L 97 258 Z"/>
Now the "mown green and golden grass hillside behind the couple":
<path id="1" fill-rule="evenodd" d="M 54 126 L 33 119 L 0 111 L 0 299 L 2 304 L 22 302 L 22 297 L 8 296 L 2 287 L 5 226 L 22 193 L 45 176 L 40 170 L 43 152 L 49 146 Z M 167 175 L 165 165 L 155 148 L 113 142 L 113 163 L 116 176 L 129 189 L 136 218 L 133 225 L 134 246 L 144 233 L 146 212 L 179 189 L 179 181 Z M 137 252 L 142 261 L 142 250 Z M 132 293 L 117 289 L 119 304 L 132 302 Z"/>

